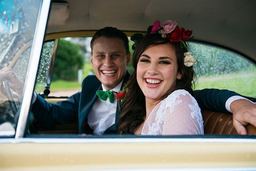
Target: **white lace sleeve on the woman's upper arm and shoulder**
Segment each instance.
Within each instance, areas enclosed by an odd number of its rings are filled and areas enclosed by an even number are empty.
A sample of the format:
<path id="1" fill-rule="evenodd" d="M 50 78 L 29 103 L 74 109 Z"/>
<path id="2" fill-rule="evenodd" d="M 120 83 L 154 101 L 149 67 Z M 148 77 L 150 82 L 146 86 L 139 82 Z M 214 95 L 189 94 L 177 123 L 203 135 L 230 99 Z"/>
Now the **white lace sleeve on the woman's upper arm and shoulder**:
<path id="1" fill-rule="evenodd" d="M 174 91 L 165 100 L 162 135 L 204 134 L 201 110 L 187 91 Z"/>

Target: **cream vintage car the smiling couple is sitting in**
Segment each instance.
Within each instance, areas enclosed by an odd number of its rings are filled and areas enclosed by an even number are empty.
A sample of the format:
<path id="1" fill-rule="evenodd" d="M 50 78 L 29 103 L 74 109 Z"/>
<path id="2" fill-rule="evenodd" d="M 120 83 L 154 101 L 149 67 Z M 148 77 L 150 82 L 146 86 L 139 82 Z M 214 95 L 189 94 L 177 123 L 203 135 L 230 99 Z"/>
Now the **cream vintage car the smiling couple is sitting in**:
<path id="1" fill-rule="evenodd" d="M 138 136 L 79 134 L 77 122 L 42 128 L 30 112 L 33 92 L 55 103 L 79 91 L 51 91 L 59 39 L 90 43 L 107 26 L 129 37 L 156 19 L 176 20 L 194 30 L 192 43 L 247 61 L 251 70 L 239 74 L 252 85 L 235 81 L 256 97 L 255 7 L 254 0 L 0 0 L 0 69 L 12 68 L 24 82 L 21 96 L 1 82 L 0 170 L 256 170 L 256 128 L 238 135 L 231 114 L 202 110 L 201 136 Z"/>

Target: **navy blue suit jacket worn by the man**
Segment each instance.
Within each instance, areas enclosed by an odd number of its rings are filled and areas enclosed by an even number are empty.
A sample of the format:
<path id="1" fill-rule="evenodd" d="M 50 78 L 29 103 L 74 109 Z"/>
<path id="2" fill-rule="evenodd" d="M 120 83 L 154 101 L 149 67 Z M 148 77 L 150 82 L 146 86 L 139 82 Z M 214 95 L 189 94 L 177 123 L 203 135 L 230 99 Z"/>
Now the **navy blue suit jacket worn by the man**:
<path id="1" fill-rule="evenodd" d="M 130 74 L 127 71 L 122 87 L 128 81 L 129 76 Z M 70 123 L 78 119 L 79 134 L 90 134 L 92 130 L 87 124 L 87 116 L 98 98 L 96 95 L 97 90 L 102 90 L 101 82 L 95 75 L 89 75 L 82 82 L 82 90 L 73 94 L 67 100 L 57 102 L 56 104 L 48 103 L 41 96 L 37 95 L 37 99 L 32 105 L 31 110 L 41 125 L 50 127 L 55 124 Z M 201 109 L 228 113 L 225 103 L 229 97 L 234 95 L 240 94 L 228 90 L 203 89 L 195 91 L 194 97 Z M 119 107 L 117 105 L 116 124 L 110 126 L 104 134 L 116 133 L 118 117 Z"/>

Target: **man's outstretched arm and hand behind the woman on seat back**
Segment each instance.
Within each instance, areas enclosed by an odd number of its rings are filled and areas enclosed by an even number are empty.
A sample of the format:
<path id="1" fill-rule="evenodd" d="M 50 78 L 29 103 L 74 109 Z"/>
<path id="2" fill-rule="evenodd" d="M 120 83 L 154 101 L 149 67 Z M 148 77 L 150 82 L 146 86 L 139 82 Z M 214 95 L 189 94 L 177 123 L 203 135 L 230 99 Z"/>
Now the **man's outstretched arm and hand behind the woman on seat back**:
<path id="1" fill-rule="evenodd" d="M 248 123 L 256 127 L 256 98 L 242 96 L 238 93 L 219 89 L 202 89 L 195 91 L 195 99 L 201 109 L 233 113 L 233 125 L 238 134 L 247 134 L 243 125 Z M 240 96 L 245 99 L 232 100 Z M 251 101 L 249 101 L 251 100 Z M 227 104 L 228 102 L 228 104 Z M 229 110 L 229 111 L 228 111 Z"/>

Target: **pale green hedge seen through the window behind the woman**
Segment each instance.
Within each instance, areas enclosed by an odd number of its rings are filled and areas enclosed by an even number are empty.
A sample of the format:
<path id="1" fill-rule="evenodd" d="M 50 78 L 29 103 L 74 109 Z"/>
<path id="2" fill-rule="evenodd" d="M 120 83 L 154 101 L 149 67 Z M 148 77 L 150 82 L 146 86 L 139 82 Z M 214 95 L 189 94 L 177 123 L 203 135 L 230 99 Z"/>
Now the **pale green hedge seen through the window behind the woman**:
<path id="1" fill-rule="evenodd" d="M 199 76 L 239 73 L 255 68 L 253 64 L 236 53 L 196 43 L 191 45 L 194 51 L 193 56 L 197 58 L 193 68 Z"/>

